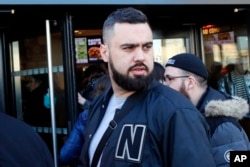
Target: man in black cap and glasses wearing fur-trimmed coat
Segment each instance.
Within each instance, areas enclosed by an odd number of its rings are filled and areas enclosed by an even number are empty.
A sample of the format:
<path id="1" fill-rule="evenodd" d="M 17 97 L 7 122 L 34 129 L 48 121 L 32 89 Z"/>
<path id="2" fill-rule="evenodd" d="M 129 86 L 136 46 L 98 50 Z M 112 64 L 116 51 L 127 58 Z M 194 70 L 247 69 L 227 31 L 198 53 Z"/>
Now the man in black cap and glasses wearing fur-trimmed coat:
<path id="1" fill-rule="evenodd" d="M 229 166 L 229 152 L 249 150 L 249 140 L 238 120 L 248 112 L 247 101 L 207 85 L 208 72 L 201 59 L 177 54 L 165 65 L 165 85 L 187 97 L 210 126 L 210 143 L 217 166 Z"/>

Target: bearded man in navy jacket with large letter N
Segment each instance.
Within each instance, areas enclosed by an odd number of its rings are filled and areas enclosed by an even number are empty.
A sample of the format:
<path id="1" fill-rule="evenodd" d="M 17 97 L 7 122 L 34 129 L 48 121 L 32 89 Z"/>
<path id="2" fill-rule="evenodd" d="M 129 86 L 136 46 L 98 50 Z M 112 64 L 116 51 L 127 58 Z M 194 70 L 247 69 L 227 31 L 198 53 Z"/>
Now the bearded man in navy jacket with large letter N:
<path id="1" fill-rule="evenodd" d="M 204 117 L 153 80 L 147 17 L 134 8 L 114 11 L 104 22 L 103 42 L 112 87 L 90 106 L 79 166 L 213 167 Z"/>

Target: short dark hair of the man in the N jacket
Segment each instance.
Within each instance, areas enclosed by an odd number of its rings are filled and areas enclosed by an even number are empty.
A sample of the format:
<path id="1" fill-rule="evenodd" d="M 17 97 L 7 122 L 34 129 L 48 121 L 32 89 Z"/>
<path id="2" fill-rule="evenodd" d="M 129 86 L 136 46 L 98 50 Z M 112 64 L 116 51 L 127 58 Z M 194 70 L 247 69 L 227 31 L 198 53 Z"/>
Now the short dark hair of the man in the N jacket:
<path id="1" fill-rule="evenodd" d="M 102 29 L 104 43 L 108 42 L 110 30 L 114 28 L 115 23 L 148 23 L 148 18 L 142 11 L 132 7 L 117 9 L 104 21 Z"/>

